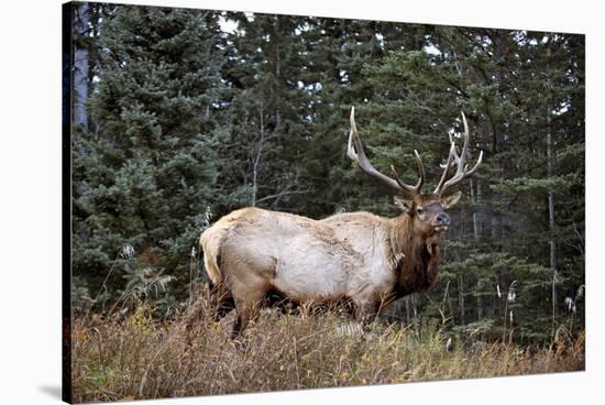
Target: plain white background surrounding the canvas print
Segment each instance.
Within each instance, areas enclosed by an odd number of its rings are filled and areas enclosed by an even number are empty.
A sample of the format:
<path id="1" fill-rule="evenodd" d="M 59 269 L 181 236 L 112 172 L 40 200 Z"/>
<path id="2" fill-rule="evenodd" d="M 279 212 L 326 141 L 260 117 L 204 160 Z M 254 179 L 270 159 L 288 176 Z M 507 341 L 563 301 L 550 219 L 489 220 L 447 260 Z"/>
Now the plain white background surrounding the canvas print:
<path id="1" fill-rule="evenodd" d="M 587 45 L 587 371 L 154 401 L 153 404 L 598 403 L 605 375 L 603 220 L 597 210 L 605 43 L 598 3 L 582 1 L 163 0 L 125 3 L 585 33 Z M 0 13 L 2 260 L 0 402 L 48 404 L 61 386 L 61 1 L 13 1 Z M 602 384 L 602 383 L 601 383 Z M 601 386 L 602 388 L 602 386 Z M 596 394 L 596 395 L 595 395 Z M 601 394 L 602 395 L 602 394 Z M 144 404 L 152 402 L 139 402 Z"/>

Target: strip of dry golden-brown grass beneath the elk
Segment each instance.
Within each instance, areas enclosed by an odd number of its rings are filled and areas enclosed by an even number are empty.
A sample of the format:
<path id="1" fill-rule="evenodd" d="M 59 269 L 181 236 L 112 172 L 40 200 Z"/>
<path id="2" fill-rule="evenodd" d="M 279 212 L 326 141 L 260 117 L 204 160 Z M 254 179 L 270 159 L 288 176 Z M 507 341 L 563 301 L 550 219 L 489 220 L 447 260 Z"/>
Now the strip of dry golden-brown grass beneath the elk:
<path id="1" fill-rule="evenodd" d="M 75 402 L 519 375 L 584 369 L 584 338 L 551 348 L 473 342 L 444 350 L 438 327 L 375 322 L 361 331 L 337 311 L 263 311 L 245 347 L 198 300 L 170 322 L 140 307 L 124 319 L 76 317 Z M 345 327 L 343 327 L 345 325 Z"/>

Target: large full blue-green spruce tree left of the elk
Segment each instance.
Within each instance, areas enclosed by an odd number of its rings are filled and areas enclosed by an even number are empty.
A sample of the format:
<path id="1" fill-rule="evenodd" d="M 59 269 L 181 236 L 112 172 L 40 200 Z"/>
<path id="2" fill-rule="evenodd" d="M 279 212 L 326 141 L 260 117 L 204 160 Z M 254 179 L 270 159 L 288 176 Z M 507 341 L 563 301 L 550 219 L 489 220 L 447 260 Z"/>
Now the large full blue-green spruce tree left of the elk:
<path id="1" fill-rule="evenodd" d="M 189 282 L 218 176 L 216 21 L 205 11 L 123 6 L 103 24 L 91 130 L 73 138 L 75 275 L 99 283 L 131 244 L 140 266 Z"/>

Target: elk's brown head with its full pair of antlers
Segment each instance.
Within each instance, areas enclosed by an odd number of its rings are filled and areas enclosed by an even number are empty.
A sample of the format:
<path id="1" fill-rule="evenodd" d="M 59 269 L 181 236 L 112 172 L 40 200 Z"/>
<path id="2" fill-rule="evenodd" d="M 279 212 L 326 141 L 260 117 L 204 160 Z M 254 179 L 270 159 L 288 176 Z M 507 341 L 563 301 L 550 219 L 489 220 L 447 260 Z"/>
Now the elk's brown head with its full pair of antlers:
<path id="1" fill-rule="evenodd" d="M 414 233 L 420 236 L 421 238 L 429 238 L 436 233 L 439 234 L 440 232 L 448 230 L 448 227 L 450 226 L 450 217 L 446 210 L 453 207 L 459 201 L 462 193 L 458 191 L 449 196 L 443 196 L 443 194 L 448 188 L 453 187 L 463 178 L 475 173 L 483 158 L 483 151 L 481 151 L 475 165 L 472 168 L 469 168 L 466 158 L 469 156 L 470 134 L 469 124 L 466 123 L 464 113 L 462 113 L 462 122 L 464 124 L 464 143 L 462 150 L 459 153 L 455 142 L 450 134 L 450 154 L 446 164 L 441 165 L 441 168 L 443 168 L 443 174 L 441 175 L 439 184 L 432 193 L 422 194 L 421 188 L 425 183 L 425 168 L 418 152 L 414 151 L 418 163 L 418 182 L 416 185 L 408 185 L 404 183 L 393 165 L 391 166 L 393 177 L 380 173 L 370 163 L 367 156 L 365 155 L 365 151 L 355 125 L 355 109 L 354 107 L 351 109 L 351 133 L 349 134 L 346 155 L 355 162 L 363 172 L 399 191 L 399 195 L 395 196 L 395 205 L 397 205 L 405 212 L 405 215 L 411 219 Z M 455 174 L 448 179 L 448 174 L 454 164 L 457 166 Z"/>

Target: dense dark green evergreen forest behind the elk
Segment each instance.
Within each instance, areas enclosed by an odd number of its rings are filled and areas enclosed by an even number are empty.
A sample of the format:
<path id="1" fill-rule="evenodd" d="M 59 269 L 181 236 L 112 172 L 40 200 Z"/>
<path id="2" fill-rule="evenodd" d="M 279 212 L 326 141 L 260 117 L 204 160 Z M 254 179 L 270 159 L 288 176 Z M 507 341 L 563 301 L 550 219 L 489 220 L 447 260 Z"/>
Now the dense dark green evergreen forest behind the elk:
<path id="1" fill-rule="evenodd" d="M 76 4 L 76 310 L 183 310 L 205 282 L 200 232 L 237 208 L 399 215 L 346 157 L 354 106 L 370 160 L 404 180 L 414 150 L 439 180 L 461 111 L 484 153 L 438 284 L 385 318 L 521 343 L 583 330 L 583 35 Z"/>

